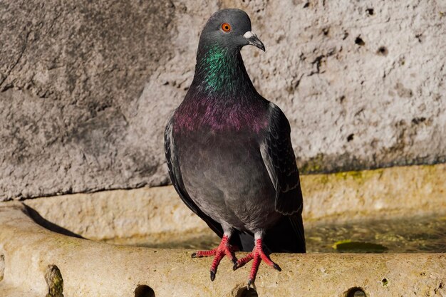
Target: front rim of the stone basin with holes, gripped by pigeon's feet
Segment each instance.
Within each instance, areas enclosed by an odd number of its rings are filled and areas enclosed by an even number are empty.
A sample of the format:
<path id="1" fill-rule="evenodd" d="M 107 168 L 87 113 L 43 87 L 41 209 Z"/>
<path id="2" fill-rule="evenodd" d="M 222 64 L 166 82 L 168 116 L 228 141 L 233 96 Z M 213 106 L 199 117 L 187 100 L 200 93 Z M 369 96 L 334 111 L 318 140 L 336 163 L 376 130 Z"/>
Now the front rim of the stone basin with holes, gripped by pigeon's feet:
<path id="1" fill-rule="evenodd" d="M 210 259 L 190 259 L 190 251 L 112 246 L 56 234 L 34 223 L 20 202 L 0 206 L 0 254 L 5 297 L 18 296 L 14 288 L 26 296 L 46 296 L 45 274 L 52 265 L 61 272 L 66 297 L 135 296 L 139 285 L 150 286 L 157 297 L 240 296 L 248 275 L 248 268 L 232 271 L 224 259 L 211 282 Z M 445 254 L 271 257 L 283 270 L 261 266 L 259 296 L 345 296 L 353 287 L 368 297 L 446 293 Z"/>

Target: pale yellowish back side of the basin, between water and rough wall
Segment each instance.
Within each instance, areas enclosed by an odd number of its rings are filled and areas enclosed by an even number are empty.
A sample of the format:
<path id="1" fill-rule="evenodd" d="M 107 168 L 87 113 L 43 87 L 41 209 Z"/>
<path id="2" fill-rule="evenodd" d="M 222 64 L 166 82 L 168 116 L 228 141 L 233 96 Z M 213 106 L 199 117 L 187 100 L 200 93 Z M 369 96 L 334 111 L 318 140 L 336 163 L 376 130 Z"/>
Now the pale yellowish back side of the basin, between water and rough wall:
<path id="1" fill-rule="evenodd" d="M 444 214 L 445 176 L 445 164 L 304 175 L 304 224 Z M 172 186 L 26 199 L 24 204 L 88 239 L 119 242 L 150 234 L 171 241 L 208 229 Z"/>

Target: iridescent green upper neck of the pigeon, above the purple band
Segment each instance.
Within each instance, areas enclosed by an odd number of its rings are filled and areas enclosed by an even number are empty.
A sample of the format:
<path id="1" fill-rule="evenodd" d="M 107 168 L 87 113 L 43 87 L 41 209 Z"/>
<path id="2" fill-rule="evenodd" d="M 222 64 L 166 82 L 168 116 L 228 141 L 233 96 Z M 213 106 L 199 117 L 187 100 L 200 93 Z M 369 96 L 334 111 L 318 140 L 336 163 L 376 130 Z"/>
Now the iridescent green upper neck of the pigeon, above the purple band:
<path id="1" fill-rule="evenodd" d="M 192 88 L 209 98 L 256 93 L 238 48 L 200 46 Z"/>

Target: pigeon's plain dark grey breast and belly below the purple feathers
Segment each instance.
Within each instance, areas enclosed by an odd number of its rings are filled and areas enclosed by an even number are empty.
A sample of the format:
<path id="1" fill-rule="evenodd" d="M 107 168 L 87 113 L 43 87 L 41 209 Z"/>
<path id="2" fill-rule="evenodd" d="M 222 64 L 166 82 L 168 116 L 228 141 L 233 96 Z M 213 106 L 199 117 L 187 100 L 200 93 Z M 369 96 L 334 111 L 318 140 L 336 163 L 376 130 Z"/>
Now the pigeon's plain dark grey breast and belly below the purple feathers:
<path id="1" fill-rule="evenodd" d="M 249 129 L 178 133 L 183 182 L 195 204 L 221 224 L 254 231 L 279 219 L 275 189 Z"/>

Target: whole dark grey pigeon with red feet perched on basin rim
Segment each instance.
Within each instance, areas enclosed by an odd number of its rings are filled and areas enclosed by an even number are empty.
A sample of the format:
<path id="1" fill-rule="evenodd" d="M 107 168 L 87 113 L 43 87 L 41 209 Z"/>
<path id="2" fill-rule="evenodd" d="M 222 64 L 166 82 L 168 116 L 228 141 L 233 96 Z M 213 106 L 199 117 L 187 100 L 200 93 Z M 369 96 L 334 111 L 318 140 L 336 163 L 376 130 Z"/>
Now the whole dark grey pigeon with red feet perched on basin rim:
<path id="1" fill-rule="evenodd" d="M 257 93 L 240 50 L 264 44 L 240 9 L 214 13 L 199 38 L 195 75 L 165 128 L 170 179 L 182 201 L 222 240 L 210 278 L 227 256 L 234 270 L 252 261 L 248 288 L 259 264 L 274 252 L 305 253 L 302 192 L 281 109 Z M 235 251 L 249 251 L 242 259 Z"/>

